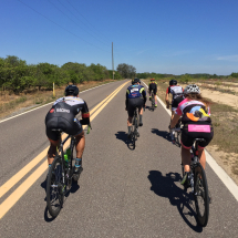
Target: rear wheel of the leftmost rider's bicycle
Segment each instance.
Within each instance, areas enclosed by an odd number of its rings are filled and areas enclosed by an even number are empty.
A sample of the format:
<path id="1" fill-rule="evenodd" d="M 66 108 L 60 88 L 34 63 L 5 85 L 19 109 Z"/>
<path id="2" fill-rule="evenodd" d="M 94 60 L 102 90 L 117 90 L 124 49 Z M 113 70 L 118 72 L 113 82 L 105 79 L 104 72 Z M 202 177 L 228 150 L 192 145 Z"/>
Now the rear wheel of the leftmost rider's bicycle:
<path id="1" fill-rule="evenodd" d="M 46 204 L 52 217 L 56 217 L 63 206 L 64 185 L 62 176 L 62 159 L 55 156 L 48 174 Z"/>

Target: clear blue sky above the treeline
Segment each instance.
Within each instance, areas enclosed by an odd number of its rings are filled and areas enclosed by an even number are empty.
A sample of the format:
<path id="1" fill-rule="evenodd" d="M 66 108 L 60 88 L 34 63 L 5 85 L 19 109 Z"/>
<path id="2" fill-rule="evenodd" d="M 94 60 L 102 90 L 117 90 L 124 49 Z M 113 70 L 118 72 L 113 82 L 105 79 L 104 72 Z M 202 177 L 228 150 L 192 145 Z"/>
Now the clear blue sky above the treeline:
<path id="1" fill-rule="evenodd" d="M 1 0 L 0 58 L 238 72 L 238 0 Z"/>

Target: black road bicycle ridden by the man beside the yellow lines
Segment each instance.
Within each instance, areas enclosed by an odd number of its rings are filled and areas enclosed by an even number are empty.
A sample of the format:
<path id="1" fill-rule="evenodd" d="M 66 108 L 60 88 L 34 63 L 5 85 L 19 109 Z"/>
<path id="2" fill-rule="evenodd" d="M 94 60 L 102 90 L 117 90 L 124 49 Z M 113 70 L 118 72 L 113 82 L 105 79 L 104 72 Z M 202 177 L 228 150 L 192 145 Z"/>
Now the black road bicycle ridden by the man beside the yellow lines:
<path id="1" fill-rule="evenodd" d="M 87 134 L 90 133 L 91 125 L 87 127 Z M 49 213 L 52 217 L 56 217 L 63 207 L 64 196 L 69 194 L 72 182 L 77 182 L 79 175 L 73 173 L 73 161 L 74 161 L 74 146 L 75 137 L 68 135 L 68 137 L 62 141 L 61 134 L 63 133 L 60 128 L 52 130 L 60 134 L 60 146 L 56 149 L 54 161 L 49 169 L 46 179 L 46 205 Z M 64 161 L 63 145 L 68 139 L 70 143 L 70 156 L 68 155 L 68 162 Z"/>

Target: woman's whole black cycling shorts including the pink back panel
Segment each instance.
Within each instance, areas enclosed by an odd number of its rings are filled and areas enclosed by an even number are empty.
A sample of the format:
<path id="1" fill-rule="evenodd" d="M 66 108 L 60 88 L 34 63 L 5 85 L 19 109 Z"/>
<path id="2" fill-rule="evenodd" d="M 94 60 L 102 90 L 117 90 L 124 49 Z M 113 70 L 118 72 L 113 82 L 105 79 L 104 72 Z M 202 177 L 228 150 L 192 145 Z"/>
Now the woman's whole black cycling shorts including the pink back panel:
<path id="1" fill-rule="evenodd" d="M 214 137 L 214 127 L 211 124 L 185 124 L 182 130 L 182 145 L 190 148 L 195 138 L 204 138 L 205 142 L 198 142 L 198 147 L 206 147 Z"/>

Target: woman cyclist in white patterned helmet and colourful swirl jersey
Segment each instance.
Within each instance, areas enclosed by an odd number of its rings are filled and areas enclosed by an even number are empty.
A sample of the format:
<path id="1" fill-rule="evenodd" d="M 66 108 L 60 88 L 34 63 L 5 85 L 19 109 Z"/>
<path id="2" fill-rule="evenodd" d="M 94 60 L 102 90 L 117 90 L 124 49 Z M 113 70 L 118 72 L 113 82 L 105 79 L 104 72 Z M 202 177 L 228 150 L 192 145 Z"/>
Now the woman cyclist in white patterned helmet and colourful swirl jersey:
<path id="1" fill-rule="evenodd" d="M 185 100 L 178 104 L 175 116 L 170 123 L 174 128 L 179 117 L 184 124 L 182 131 L 182 163 L 185 175 L 182 184 L 185 184 L 190 165 L 190 148 L 195 138 L 204 138 L 205 142 L 198 144 L 198 157 L 201 166 L 205 168 L 206 156 L 204 148 L 214 137 L 214 128 L 210 120 L 209 102 L 201 97 L 200 90 L 196 84 L 187 85 L 184 90 Z"/>

